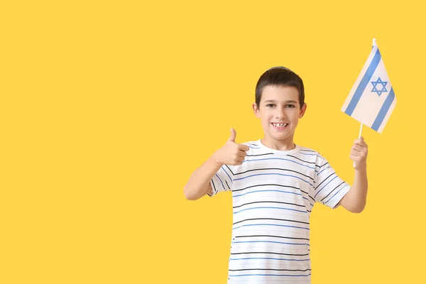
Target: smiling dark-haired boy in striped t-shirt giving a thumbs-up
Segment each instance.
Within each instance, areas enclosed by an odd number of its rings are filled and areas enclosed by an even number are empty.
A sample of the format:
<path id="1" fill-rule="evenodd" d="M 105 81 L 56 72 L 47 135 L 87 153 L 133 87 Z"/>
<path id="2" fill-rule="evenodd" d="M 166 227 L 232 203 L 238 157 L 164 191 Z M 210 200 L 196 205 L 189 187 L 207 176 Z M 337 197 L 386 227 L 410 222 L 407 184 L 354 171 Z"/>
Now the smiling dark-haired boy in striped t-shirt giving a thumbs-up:
<path id="1" fill-rule="evenodd" d="M 225 145 L 192 173 L 187 200 L 231 190 L 233 226 L 228 283 L 310 283 L 310 212 L 315 202 L 361 212 L 366 205 L 367 145 L 356 139 L 350 186 L 317 151 L 293 142 L 305 114 L 303 82 L 273 67 L 256 84 L 253 111 L 264 137 Z"/>

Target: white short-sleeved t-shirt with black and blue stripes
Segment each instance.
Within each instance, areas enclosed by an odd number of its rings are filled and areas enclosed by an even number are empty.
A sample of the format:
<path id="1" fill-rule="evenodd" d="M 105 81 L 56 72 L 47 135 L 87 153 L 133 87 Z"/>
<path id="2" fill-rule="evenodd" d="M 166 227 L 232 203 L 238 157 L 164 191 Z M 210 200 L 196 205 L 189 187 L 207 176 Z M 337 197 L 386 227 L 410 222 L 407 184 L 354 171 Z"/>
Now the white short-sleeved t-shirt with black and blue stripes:
<path id="1" fill-rule="evenodd" d="M 296 145 L 249 146 L 242 165 L 223 165 L 209 196 L 231 190 L 233 225 L 228 283 L 310 283 L 310 213 L 349 191 L 320 153 Z"/>

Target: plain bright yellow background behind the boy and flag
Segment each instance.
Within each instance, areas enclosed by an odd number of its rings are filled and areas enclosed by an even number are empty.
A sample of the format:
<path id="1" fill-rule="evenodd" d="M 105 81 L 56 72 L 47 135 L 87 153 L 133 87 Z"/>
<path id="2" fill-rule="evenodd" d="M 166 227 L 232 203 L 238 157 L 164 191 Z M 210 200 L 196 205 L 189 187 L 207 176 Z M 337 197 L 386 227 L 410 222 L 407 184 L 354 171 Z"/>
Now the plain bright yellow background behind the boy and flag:
<path id="1" fill-rule="evenodd" d="M 226 283 L 231 194 L 185 200 L 229 137 L 261 138 L 258 77 L 305 82 L 295 142 L 352 182 L 340 111 L 377 39 L 397 104 L 364 127 L 368 204 L 317 204 L 312 283 L 420 283 L 420 1 L 2 1 L 0 283 Z"/>

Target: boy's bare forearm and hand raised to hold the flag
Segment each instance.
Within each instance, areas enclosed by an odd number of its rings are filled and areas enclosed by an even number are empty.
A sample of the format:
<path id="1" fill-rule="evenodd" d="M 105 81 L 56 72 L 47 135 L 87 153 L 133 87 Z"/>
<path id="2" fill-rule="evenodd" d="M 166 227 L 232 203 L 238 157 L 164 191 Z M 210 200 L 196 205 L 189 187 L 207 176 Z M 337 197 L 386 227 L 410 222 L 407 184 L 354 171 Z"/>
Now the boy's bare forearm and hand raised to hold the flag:
<path id="1" fill-rule="evenodd" d="M 351 160 L 354 160 L 354 183 L 349 192 L 339 202 L 350 212 L 361 213 L 366 207 L 368 191 L 367 154 L 368 146 L 364 142 L 364 138 L 356 139 L 350 155 Z"/>

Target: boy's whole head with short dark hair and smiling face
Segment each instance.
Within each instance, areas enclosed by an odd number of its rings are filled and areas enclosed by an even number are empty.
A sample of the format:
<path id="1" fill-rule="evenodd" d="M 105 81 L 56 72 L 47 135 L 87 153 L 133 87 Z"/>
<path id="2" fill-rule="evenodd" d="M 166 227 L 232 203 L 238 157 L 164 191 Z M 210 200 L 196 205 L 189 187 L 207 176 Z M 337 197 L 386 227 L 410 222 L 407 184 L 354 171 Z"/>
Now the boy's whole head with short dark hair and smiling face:
<path id="1" fill-rule="evenodd" d="M 293 143 L 298 120 L 306 111 L 302 79 L 285 67 L 267 70 L 256 84 L 253 111 L 268 141 Z"/>

